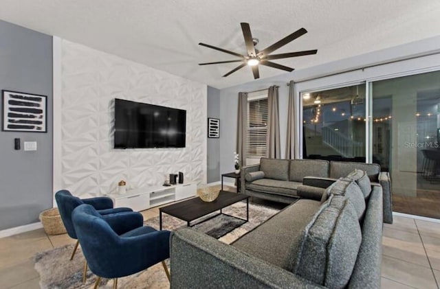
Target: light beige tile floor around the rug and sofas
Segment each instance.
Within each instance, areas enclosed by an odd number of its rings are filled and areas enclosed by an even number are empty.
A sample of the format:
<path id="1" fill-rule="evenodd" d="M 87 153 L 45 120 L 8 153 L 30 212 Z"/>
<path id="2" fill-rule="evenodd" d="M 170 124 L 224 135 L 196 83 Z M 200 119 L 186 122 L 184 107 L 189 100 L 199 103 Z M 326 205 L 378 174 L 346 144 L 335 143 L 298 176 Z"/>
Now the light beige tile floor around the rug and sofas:
<path id="1" fill-rule="evenodd" d="M 159 209 L 142 212 L 145 219 Z M 382 288 L 439 288 L 440 223 L 395 216 L 384 224 Z M 0 288 L 40 288 L 33 256 L 76 242 L 64 235 L 47 235 L 43 229 L 0 239 Z"/>

